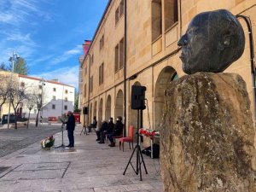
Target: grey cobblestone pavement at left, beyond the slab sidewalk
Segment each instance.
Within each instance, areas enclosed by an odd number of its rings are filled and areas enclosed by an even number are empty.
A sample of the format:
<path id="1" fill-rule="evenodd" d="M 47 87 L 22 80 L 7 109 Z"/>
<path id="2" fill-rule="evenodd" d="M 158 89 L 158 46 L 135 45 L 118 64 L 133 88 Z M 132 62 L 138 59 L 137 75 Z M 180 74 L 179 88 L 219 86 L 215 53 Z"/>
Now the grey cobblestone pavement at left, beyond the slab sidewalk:
<path id="1" fill-rule="evenodd" d="M 61 131 L 61 125 L 31 125 L 29 128 L 0 129 L 0 157 L 11 154 L 20 148 L 41 141 L 45 137 Z"/>

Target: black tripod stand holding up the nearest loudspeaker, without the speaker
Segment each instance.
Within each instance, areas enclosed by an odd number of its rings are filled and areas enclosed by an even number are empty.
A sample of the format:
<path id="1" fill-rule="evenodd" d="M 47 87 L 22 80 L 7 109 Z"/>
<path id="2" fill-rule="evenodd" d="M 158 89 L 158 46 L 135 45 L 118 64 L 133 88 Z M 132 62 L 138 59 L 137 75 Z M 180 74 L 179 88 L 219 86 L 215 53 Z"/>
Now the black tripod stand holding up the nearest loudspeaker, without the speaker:
<path id="1" fill-rule="evenodd" d="M 139 128 L 139 112 L 140 109 L 137 109 L 137 145 L 135 146 L 135 148 L 133 149 L 133 152 L 131 154 L 130 160 L 127 163 L 127 166 L 125 167 L 125 172 L 128 168 L 129 165 L 131 165 L 133 171 L 138 175 L 140 173 L 140 181 L 143 181 L 143 177 L 142 177 L 142 163 L 145 169 L 146 174 L 148 174 L 147 168 L 145 166 L 145 162 L 143 160 L 143 154 L 142 154 L 142 150 L 141 150 L 141 146 L 139 145 L 139 132 L 138 132 L 138 128 Z M 134 166 L 131 163 L 131 159 L 133 154 L 135 153 L 137 154 L 137 158 L 136 158 L 136 170 L 134 168 Z M 142 160 L 141 160 L 142 159 Z M 123 173 L 123 175 L 125 175 L 125 172 Z"/>

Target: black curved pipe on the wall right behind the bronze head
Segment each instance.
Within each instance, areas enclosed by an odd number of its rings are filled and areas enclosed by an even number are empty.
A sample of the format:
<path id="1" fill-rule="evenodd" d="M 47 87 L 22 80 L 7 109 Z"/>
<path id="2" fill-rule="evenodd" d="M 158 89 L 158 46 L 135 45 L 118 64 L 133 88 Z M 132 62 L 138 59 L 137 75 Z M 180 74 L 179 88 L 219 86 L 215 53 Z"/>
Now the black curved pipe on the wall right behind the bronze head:
<path id="1" fill-rule="evenodd" d="M 255 88 L 255 67 L 254 67 L 254 48 L 253 48 L 253 31 L 252 23 L 249 17 L 244 15 L 236 15 L 236 18 L 241 18 L 247 23 L 248 35 L 249 35 L 249 44 L 250 44 L 250 61 L 251 61 L 251 75 L 253 83 L 253 126 L 256 129 L 256 88 Z"/>

